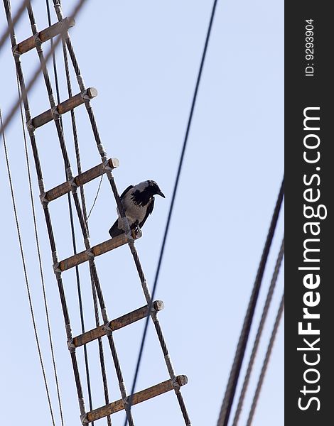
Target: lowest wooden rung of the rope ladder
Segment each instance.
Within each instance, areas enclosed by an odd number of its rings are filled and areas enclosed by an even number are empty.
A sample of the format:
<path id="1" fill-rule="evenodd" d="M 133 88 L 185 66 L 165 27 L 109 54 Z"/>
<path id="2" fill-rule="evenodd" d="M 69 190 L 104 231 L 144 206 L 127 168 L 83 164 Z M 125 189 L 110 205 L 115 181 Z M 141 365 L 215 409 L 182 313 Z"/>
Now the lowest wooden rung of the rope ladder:
<path id="1" fill-rule="evenodd" d="M 188 383 L 188 378 L 187 376 L 181 375 L 176 377 L 176 381 L 178 386 L 184 386 Z M 161 395 L 162 393 L 173 391 L 173 389 L 174 386 L 171 379 L 166 380 L 162 383 L 159 383 L 158 385 L 151 386 L 151 388 L 144 389 L 144 391 L 134 393 L 132 398 L 132 405 L 142 403 L 146 400 L 154 398 L 155 396 Z M 102 417 L 107 417 L 107 415 L 112 415 L 121 410 L 124 410 L 124 400 L 122 399 L 104 405 L 103 407 L 97 408 L 96 410 L 89 411 L 86 413 L 86 417 L 88 422 L 95 422 Z"/>

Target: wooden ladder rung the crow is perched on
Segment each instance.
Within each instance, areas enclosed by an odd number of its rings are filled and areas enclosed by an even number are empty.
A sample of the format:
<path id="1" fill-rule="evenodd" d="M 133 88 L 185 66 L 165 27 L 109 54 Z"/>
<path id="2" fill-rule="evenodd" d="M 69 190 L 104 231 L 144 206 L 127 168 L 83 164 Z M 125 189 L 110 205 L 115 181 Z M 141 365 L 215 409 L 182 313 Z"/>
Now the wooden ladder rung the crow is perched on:
<path id="1" fill-rule="evenodd" d="M 138 237 L 137 237 L 138 238 Z M 117 247 L 123 246 L 128 242 L 128 239 L 125 234 L 121 234 L 119 236 L 115 236 L 112 239 L 104 241 L 103 243 L 97 244 L 91 248 L 91 253 L 93 256 L 100 256 L 101 254 L 107 253 L 107 251 L 111 251 L 117 249 Z M 87 262 L 90 259 L 90 254 L 87 251 L 82 251 L 81 253 L 77 253 L 74 256 L 70 256 L 63 261 L 60 261 L 58 268 L 61 272 L 67 271 L 74 266 L 80 265 L 80 263 Z M 57 269 L 57 268 L 55 268 Z"/>

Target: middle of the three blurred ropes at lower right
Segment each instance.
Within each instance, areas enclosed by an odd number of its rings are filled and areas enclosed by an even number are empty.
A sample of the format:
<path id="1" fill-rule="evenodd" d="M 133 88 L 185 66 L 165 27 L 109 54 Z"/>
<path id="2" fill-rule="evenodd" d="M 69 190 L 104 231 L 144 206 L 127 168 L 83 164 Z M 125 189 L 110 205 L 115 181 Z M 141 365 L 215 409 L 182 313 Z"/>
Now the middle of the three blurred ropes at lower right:
<path id="1" fill-rule="evenodd" d="M 242 384 L 242 391 L 240 392 L 239 402 L 238 402 L 238 405 L 237 405 L 237 410 L 235 411 L 235 418 L 233 420 L 232 426 L 237 426 L 237 423 L 239 422 L 239 416 L 240 416 L 240 413 L 242 411 L 242 405 L 244 403 L 244 397 L 245 397 L 246 392 L 247 392 L 247 388 L 248 388 L 248 384 L 249 384 L 249 378 L 250 378 L 251 373 L 252 373 L 252 368 L 254 366 L 255 357 L 257 356 L 257 349 L 259 348 L 259 342 L 260 342 L 262 332 L 263 332 L 263 329 L 264 329 L 264 323 L 266 322 L 266 317 L 267 317 L 268 312 L 269 312 L 269 307 L 271 305 L 271 300 L 272 300 L 272 296 L 274 294 L 274 289 L 275 289 L 275 286 L 276 286 L 277 278 L 279 276 L 279 270 L 281 268 L 281 263 L 282 263 L 283 257 L 284 257 L 284 238 L 282 239 L 282 242 L 281 242 L 281 248 L 279 249 L 279 255 L 277 256 L 277 259 L 276 259 L 276 265 L 275 265 L 275 268 L 274 268 L 274 273 L 272 275 L 271 283 L 269 285 L 269 290 L 268 290 L 268 293 L 266 295 L 266 302 L 264 303 L 262 317 L 261 317 L 261 320 L 259 322 L 259 327 L 257 329 L 257 336 L 255 337 L 255 340 L 254 340 L 252 354 L 249 358 L 247 372 L 244 376 L 244 383 Z"/>

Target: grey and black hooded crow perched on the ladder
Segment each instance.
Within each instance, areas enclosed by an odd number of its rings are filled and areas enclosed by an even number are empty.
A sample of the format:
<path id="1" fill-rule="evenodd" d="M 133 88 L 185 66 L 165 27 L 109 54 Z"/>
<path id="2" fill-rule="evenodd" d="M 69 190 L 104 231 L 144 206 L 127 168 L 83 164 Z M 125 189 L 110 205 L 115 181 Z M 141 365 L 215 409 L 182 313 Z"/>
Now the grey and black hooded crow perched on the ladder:
<path id="1" fill-rule="evenodd" d="M 129 220 L 130 229 L 136 232 L 141 228 L 149 214 L 153 211 L 154 195 L 166 198 L 154 180 L 144 180 L 137 185 L 130 185 L 121 195 L 124 212 Z M 114 236 L 124 233 L 122 222 L 119 219 L 109 229 L 109 234 Z"/>

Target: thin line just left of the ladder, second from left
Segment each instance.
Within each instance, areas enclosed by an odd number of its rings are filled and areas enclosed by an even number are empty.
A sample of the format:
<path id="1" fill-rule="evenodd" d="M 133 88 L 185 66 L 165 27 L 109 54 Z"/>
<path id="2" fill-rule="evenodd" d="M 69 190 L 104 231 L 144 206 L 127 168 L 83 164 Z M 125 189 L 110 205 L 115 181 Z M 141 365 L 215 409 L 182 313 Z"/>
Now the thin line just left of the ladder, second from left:
<path id="1" fill-rule="evenodd" d="M 18 96 L 20 96 L 20 83 L 18 81 L 18 75 L 17 74 L 16 74 L 16 82 L 17 82 Z M 23 132 L 23 140 L 24 140 L 24 150 L 25 150 L 25 153 L 26 153 L 26 167 L 27 167 L 29 190 L 30 190 L 31 211 L 33 213 L 33 228 L 34 228 L 34 231 L 35 231 L 36 249 L 37 249 L 37 253 L 38 253 L 38 263 L 39 263 L 41 283 L 42 283 L 42 289 L 43 289 L 45 317 L 46 317 L 46 322 L 47 322 L 47 325 L 48 325 L 48 337 L 49 337 L 51 358 L 52 358 L 52 363 L 53 363 L 53 373 L 54 373 L 54 376 L 55 376 L 55 386 L 56 386 L 56 389 L 57 389 L 60 420 L 61 420 L 61 424 L 64 425 L 63 408 L 62 408 L 62 403 L 61 403 L 61 398 L 60 398 L 60 388 L 59 388 L 59 382 L 58 382 L 58 373 L 57 373 L 57 367 L 56 367 L 56 364 L 55 364 L 55 354 L 54 354 L 54 351 L 53 351 L 53 339 L 52 339 L 52 334 L 51 334 L 50 318 L 49 318 L 49 314 L 48 314 L 48 301 L 47 301 L 46 292 L 45 292 L 43 264 L 42 264 L 41 249 L 40 249 L 40 244 L 39 244 L 37 222 L 36 222 L 36 210 L 35 210 L 35 203 L 33 201 L 33 185 L 31 183 L 31 170 L 30 170 L 30 162 L 29 162 L 29 155 L 28 155 L 28 143 L 27 143 L 27 140 L 26 140 L 26 130 L 25 130 L 25 127 L 24 127 L 25 124 L 24 124 L 24 119 L 23 119 L 22 104 L 20 105 L 20 113 L 21 113 L 21 125 L 22 125 L 22 132 Z"/>

